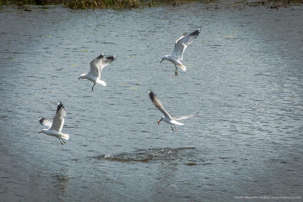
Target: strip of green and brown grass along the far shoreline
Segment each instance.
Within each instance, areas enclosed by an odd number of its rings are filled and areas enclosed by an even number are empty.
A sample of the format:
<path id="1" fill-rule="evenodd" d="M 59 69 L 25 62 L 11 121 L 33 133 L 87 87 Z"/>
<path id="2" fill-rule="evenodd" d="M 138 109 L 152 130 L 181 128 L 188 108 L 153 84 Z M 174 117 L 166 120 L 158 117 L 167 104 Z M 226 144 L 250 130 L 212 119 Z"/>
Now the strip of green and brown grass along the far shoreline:
<path id="1" fill-rule="evenodd" d="M 224 9 L 228 7 L 218 7 L 220 0 L 186 0 L 180 2 L 177 0 L 0 0 L 0 6 L 3 5 L 61 5 L 63 8 L 70 8 L 72 10 L 82 9 L 132 9 L 132 8 L 148 8 L 160 3 L 170 2 L 172 6 L 178 6 L 183 3 L 201 2 L 215 6 L 215 9 Z M 245 6 L 265 6 L 267 8 L 276 9 L 288 8 L 290 6 L 302 6 L 303 0 L 265 0 L 265 1 L 248 1 L 248 2 L 234 2 L 230 1 L 230 5 L 234 8 Z M 208 9 L 208 8 L 207 8 Z M 25 9 L 25 11 L 30 11 Z"/>

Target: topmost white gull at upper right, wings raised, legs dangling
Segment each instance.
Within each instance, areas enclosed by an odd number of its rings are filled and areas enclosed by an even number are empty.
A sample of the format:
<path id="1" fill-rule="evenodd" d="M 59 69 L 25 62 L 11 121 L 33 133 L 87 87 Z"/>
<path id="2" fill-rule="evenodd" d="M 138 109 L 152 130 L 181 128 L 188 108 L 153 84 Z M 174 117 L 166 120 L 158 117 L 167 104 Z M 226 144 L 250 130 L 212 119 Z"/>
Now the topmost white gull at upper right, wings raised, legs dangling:
<path id="1" fill-rule="evenodd" d="M 199 35 L 201 31 L 201 28 L 198 28 L 196 31 L 191 32 L 189 35 L 187 35 L 187 30 L 184 32 L 184 34 L 175 42 L 175 49 L 170 55 L 164 55 L 162 57 L 162 61 L 168 60 L 175 65 L 175 75 L 178 76 L 178 68 L 177 66 L 180 66 L 180 68 L 183 71 L 186 71 L 186 67 L 182 65 L 180 62 L 183 60 L 183 53 L 185 51 L 185 48 L 187 48 L 188 45 L 190 45 Z M 160 62 L 160 63 L 161 63 Z"/>

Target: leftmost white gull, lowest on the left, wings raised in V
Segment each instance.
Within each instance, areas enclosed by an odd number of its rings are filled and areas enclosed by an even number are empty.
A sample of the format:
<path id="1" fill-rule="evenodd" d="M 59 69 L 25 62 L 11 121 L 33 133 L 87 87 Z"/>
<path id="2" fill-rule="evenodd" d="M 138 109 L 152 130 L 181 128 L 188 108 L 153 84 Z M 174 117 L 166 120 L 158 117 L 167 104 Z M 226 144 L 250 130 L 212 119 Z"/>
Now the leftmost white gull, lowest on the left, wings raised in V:
<path id="1" fill-rule="evenodd" d="M 44 134 L 47 134 L 50 136 L 58 137 L 60 143 L 63 145 L 63 143 L 61 142 L 61 140 L 63 141 L 62 137 L 65 140 L 69 139 L 68 134 L 64 134 L 61 132 L 63 124 L 64 124 L 65 116 L 66 116 L 66 111 L 63 107 L 63 104 L 62 104 L 62 102 L 58 102 L 57 112 L 53 119 L 54 123 L 52 123 L 52 121 L 48 121 L 46 118 L 39 117 L 40 124 L 47 127 L 47 129 L 42 129 L 41 132 L 39 132 L 39 133 L 44 133 Z M 65 141 L 63 141 L 63 142 L 66 144 Z"/>

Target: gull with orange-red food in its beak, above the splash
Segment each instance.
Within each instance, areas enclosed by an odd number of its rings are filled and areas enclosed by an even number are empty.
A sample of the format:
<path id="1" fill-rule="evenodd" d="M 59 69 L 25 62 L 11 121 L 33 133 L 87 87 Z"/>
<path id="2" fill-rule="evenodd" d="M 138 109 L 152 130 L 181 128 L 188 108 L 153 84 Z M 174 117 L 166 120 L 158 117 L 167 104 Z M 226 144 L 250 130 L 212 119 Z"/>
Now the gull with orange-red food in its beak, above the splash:
<path id="1" fill-rule="evenodd" d="M 188 119 L 188 118 L 195 116 L 195 114 L 191 114 L 191 115 L 187 115 L 187 116 L 171 117 L 171 115 L 169 115 L 168 112 L 165 111 L 165 109 L 163 108 L 163 105 L 161 104 L 161 102 L 159 101 L 159 99 L 157 98 L 157 96 L 154 94 L 153 91 L 149 92 L 149 97 L 151 98 L 151 101 L 156 106 L 156 108 L 158 108 L 158 110 L 160 110 L 164 114 L 164 116 L 162 116 L 161 119 L 159 121 L 157 121 L 157 123 L 160 124 L 161 121 L 164 121 L 168 124 L 171 124 L 171 130 L 173 132 L 174 132 L 174 129 L 172 128 L 172 125 L 175 126 L 176 133 L 178 133 L 176 125 L 184 125 L 184 124 L 178 122 L 178 120 Z M 199 112 L 197 112 L 196 114 L 198 114 L 198 113 Z"/>

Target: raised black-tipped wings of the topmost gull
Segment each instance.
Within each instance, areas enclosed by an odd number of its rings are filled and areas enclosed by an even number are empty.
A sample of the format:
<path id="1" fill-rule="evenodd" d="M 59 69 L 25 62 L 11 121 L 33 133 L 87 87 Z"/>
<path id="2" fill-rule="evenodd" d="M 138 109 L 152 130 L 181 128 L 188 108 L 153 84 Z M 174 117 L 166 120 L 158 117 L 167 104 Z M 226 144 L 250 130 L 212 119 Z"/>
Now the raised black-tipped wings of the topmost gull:
<path id="1" fill-rule="evenodd" d="M 183 60 L 183 53 L 185 48 L 193 42 L 199 35 L 201 28 L 198 28 L 196 31 L 191 32 L 187 35 L 187 30 L 185 33 L 175 42 L 175 49 L 171 53 L 171 56 L 177 60 Z"/>

